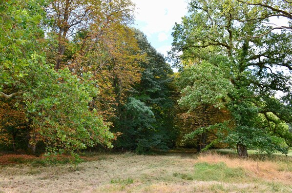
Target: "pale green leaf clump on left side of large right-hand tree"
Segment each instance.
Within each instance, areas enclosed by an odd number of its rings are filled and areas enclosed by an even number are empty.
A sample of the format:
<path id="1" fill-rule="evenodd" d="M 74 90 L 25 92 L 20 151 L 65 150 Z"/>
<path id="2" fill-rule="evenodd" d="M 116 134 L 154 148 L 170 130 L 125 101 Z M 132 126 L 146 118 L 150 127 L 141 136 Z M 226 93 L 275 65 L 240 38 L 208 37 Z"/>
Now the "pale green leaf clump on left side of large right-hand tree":
<path id="1" fill-rule="evenodd" d="M 191 82 L 191 85 L 182 90 L 180 105 L 188 106 L 190 110 L 199 104 L 224 107 L 229 101 L 228 94 L 234 92 L 234 86 L 229 81 L 230 72 L 225 71 L 229 63 L 217 60 L 216 64 L 218 67 L 203 61 L 184 69 L 182 81 Z"/>

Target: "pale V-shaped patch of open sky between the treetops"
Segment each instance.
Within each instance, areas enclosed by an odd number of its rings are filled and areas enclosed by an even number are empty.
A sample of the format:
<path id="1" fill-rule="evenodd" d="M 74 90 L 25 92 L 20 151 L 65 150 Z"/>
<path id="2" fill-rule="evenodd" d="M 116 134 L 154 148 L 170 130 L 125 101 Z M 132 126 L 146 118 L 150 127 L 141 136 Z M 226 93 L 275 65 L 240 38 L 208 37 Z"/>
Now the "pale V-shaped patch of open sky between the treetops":
<path id="1" fill-rule="evenodd" d="M 187 0 L 132 0 L 136 4 L 134 26 L 146 34 L 158 52 L 167 56 L 171 48 L 171 32 L 175 22 L 187 14 Z"/>

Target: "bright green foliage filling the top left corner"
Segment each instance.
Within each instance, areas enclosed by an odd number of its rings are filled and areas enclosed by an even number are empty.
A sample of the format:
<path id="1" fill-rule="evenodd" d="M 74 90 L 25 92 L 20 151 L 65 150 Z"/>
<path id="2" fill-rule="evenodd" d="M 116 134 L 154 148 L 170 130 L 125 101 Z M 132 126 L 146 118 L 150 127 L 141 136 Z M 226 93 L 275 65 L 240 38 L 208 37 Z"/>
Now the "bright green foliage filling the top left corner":
<path id="1" fill-rule="evenodd" d="M 0 2 L 0 92 L 23 89 L 30 56 L 40 48 L 43 31 L 39 26 L 43 1 L 4 0 Z"/>

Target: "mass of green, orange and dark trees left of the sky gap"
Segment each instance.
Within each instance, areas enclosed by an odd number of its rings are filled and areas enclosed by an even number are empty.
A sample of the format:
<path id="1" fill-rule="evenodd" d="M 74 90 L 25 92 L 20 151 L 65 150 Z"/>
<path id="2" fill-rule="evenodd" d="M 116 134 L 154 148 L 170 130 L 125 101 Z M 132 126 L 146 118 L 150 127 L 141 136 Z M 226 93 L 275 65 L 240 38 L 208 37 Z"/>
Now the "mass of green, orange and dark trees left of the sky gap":
<path id="1" fill-rule="evenodd" d="M 5 0 L 1 144 L 35 153 L 173 146 L 172 70 L 130 0 Z"/>

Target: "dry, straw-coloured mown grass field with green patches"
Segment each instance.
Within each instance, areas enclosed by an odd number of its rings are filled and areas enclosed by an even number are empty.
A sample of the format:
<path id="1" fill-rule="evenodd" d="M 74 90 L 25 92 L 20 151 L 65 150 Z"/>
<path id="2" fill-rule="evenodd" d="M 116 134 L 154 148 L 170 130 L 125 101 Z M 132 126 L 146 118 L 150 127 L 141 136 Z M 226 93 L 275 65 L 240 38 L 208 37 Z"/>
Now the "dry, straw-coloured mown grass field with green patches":
<path id="1" fill-rule="evenodd" d="M 0 154 L 0 192 L 292 192 L 292 157 L 232 153 L 96 154 L 62 158 Z"/>

